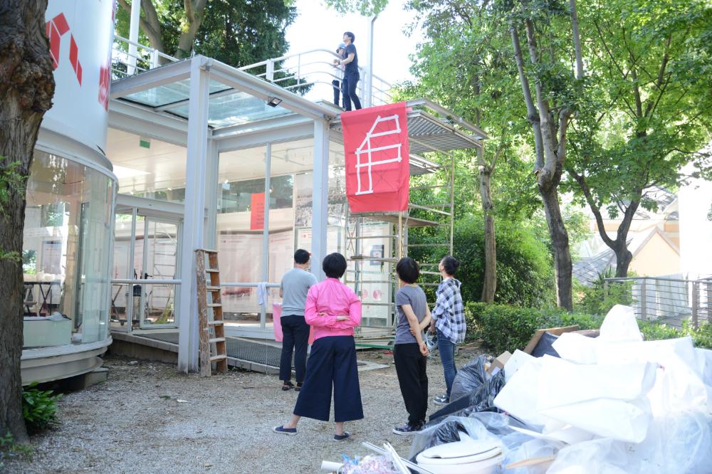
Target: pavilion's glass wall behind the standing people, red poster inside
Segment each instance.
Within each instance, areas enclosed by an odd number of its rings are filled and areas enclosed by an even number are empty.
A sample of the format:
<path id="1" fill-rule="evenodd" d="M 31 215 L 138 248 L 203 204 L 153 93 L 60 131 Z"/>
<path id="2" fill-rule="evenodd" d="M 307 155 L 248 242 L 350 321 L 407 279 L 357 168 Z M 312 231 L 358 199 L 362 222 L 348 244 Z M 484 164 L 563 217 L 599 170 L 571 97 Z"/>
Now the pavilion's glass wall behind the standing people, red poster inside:
<path id="1" fill-rule="evenodd" d="M 269 183 L 266 189 L 267 154 L 270 154 Z M 220 155 L 217 217 L 217 249 L 221 278 L 230 283 L 279 283 L 293 266 L 296 248 L 311 251 L 313 210 L 314 141 L 300 139 L 226 152 Z M 265 238 L 265 208 L 268 207 L 268 231 Z M 331 142 L 329 149 L 329 196 L 327 251 L 350 257 L 347 250 L 347 199 L 344 152 L 341 144 Z M 389 223 L 372 223 L 367 233 L 392 234 Z M 350 241 L 353 246 L 354 241 Z M 374 258 L 389 258 L 387 238 L 365 241 L 365 249 Z M 265 254 L 266 252 L 266 254 Z M 379 253 L 380 252 L 380 253 Z M 266 258 L 265 258 L 266 257 Z M 365 308 L 370 325 L 387 324 L 390 289 L 388 265 L 382 261 L 366 262 L 368 268 L 355 271 L 350 263 L 347 283 L 374 305 Z M 320 265 L 314 262 L 313 265 Z M 385 275 L 384 275 L 385 273 Z M 356 279 L 360 285 L 356 284 Z M 364 283 L 372 280 L 372 283 Z M 268 290 L 267 321 L 272 303 L 280 300 L 277 288 Z M 261 307 L 254 286 L 223 288 L 222 303 L 228 317 L 258 324 Z"/>

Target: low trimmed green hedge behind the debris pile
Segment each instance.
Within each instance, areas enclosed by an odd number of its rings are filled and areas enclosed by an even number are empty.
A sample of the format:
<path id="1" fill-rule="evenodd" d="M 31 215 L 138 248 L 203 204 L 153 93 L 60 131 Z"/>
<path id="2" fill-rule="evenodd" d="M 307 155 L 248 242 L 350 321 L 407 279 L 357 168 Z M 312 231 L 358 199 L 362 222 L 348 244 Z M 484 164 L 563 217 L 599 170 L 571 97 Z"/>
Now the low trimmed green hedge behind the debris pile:
<path id="1" fill-rule="evenodd" d="M 597 329 L 602 318 L 568 313 L 559 308 L 531 308 L 468 302 L 465 307 L 468 339 L 482 339 L 483 346 L 495 354 L 524 349 L 536 330 L 543 327 L 579 325 Z"/>

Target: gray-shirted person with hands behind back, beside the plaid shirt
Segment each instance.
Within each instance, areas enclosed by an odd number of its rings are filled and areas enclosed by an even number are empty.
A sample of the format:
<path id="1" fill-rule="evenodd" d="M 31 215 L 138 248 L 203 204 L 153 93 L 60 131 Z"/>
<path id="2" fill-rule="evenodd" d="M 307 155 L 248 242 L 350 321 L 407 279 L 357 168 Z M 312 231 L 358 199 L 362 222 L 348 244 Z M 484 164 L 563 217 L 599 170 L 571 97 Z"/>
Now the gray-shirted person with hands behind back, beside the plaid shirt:
<path id="1" fill-rule="evenodd" d="M 430 324 L 431 315 L 423 289 L 415 284 L 420 276 L 418 263 L 412 258 L 401 258 L 396 265 L 396 273 L 401 287 L 396 293 L 398 327 L 393 361 L 408 411 L 408 423 L 393 428 L 393 433 L 411 435 L 422 429 L 428 409 L 428 347 L 423 339 L 423 330 Z"/>

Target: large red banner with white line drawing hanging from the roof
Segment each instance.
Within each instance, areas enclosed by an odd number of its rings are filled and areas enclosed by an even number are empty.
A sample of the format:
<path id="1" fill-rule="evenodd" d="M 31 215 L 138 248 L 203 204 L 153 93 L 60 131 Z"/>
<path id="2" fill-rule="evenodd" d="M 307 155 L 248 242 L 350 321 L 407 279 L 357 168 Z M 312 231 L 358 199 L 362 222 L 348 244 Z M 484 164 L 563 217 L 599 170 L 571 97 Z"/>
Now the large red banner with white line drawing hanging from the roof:
<path id="1" fill-rule="evenodd" d="M 407 210 L 410 173 L 405 102 L 344 112 L 341 125 L 351 212 Z"/>

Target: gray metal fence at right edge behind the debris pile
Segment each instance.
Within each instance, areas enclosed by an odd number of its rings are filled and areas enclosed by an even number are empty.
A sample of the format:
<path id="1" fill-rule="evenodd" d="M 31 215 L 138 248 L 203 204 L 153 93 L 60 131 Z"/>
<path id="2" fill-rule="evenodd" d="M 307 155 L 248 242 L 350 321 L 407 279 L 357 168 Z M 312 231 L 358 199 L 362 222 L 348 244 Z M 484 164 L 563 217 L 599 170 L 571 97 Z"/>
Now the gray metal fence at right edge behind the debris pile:
<path id="1" fill-rule="evenodd" d="M 698 327 L 712 317 L 712 278 L 606 278 L 604 292 L 634 307 L 636 317 L 644 321 L 681 327 L 689 320 Z"/>

